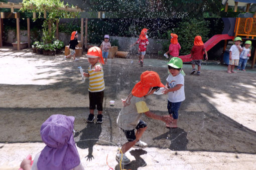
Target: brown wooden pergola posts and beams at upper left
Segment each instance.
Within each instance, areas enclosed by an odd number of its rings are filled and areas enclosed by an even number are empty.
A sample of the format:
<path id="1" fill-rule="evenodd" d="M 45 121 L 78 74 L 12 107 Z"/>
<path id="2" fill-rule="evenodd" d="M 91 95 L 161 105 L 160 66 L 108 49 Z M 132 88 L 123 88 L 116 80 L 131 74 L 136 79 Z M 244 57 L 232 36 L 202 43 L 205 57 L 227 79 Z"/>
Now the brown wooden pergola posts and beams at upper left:
<path id="1" fill-rule="evenodd" d="M 16 18 L 16 28 L 17 28 L 17 43 L 18 43 L 18 50 L 20 50 L 20 13 L 19 12 L 15 12 L 14 9 L 20 9 L 22 8 L 22 3 L 13 3 L 13 2 L 0 2 L 0 7 L 1 8 L 11 8 L 11 12 L 13 12 L 15 14 L 15 18 Z M 33 7 L 32 7 L 33 8 Z M 69 6 L 65 6 L 65 7 L 58 7 L 59 10 L 65 10 L 65 11 L 69 11 L 69 12 L 81 12 L 82 9 L 78 8 L 78 6 L 75 6 L 75 8 L 69 7 Z M 44 18 L 46 18 L 46 10 L 44 10 Z M 9 16 L 10 17 L 10 16 Z M 9 18 L 8 16 L 5 16 L 4 12 L 1 12 L 0 15 L 0 47 L 3 46 L 3 18 Z M 33 18 L 36 18 L 36 12 L 33 12 Z M 81 18 L 81 43 L 83 44 L 83 42 L 85 42 L 85 46 L 87 44 L 87 25 L 88 25 L 88 18 L 85 18 L 85 41 L 83 41 L 84 37 L 83 37 L 83 27 L 84 27 L 84 18 Z M 28 27 L 28 46 L 30 47 L 31 42 L 30 42 L 30 18 L 27 18 L 27 27 Z M 59 39 L 59 23 L 56 23 L 56 38 Z M 83 47 L 83 45 L 82 45 Z"/>

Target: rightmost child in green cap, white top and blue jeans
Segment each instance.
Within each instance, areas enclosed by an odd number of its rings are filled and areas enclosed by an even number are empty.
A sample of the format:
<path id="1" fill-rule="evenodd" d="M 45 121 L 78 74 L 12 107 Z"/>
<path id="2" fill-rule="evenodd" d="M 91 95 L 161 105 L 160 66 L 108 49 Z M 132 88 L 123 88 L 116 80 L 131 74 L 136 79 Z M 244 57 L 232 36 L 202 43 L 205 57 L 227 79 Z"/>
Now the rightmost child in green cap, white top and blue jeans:
<path id="1" fill-rule="evenodd" d="M 242 52 L 240 54 L 239 65 L 237 66 L 237 70 L 242 69 L 243 71 L 245 71 L 247 60 L 250 57 L 250 50 L 251 50 L 250 45 L 251 45 L 251 41 L 246 40 L 244 43 L 244 46 L 242 47 Z"/>

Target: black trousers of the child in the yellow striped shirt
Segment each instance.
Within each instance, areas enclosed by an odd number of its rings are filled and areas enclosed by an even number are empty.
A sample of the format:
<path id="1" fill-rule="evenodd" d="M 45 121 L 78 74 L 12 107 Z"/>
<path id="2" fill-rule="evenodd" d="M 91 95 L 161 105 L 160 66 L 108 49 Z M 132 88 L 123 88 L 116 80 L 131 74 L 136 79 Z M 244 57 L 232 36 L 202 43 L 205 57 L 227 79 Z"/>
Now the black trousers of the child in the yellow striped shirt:
<path id="1" fill-rule="evenodd" d="M 104 90 L 98 92 L 90 92 L 89 91 L 89 101 L 90 101 L 90 109 L 95 109 L 97 105 L 97 110 L 103 110 L 103 97 L 104 97 Z"/>

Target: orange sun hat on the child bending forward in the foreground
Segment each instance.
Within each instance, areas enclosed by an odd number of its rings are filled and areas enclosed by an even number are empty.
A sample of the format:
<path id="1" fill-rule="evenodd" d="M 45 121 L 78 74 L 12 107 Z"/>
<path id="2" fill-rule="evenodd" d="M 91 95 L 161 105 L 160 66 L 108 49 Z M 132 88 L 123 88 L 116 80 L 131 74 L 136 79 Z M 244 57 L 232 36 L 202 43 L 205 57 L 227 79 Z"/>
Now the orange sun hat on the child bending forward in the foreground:
<path id="1" fill-rule="evenodd" d="M 165 87 L 158 73 L 155 71 L 144 71 L 141 74 L 141 81 L 135 84 L 132 94 L 137 97 L 143 97 L 149 92 L 151 87 L 155 86 Z"/>

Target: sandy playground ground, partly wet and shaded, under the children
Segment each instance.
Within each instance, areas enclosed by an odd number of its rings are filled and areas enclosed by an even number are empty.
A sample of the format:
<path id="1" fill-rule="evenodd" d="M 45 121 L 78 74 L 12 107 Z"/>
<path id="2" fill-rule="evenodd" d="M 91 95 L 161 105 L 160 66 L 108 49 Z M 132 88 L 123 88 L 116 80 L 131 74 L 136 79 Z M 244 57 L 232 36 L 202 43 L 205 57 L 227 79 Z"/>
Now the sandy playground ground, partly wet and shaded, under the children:
<path id="1" fill-rule="evenodd" d="M 103 123 L 87 123 L 88 79 L 77 66 L 88 68 L 85 55 L 73 62 L 62 55 L 45 56 L 0 48 L 0 169 L 18 169 L 27 154 L 35 156 L 44 143 L 41 124 L 52 114 L 75 116 L 75 141 L 85 169 L 120 169 L 115 153 L 125 136 L 116 125 L 125 98 L 145 70 L 166 82 L 166 60 L 109 59 L 104 69 Z M 190 75 L 184 64 L 185 95 L 178 128 L 143 116 L 148 129 L 145 149 L 132 148 L 125 169 L 256 169 L 256 70 L 228 74 L 226 65 L 204 64 L 201 75 Z M 109 105 L 115 100 L 114 106 Z M 167 95 L 147 97 L 150 110 L 164 115 Z"/>

